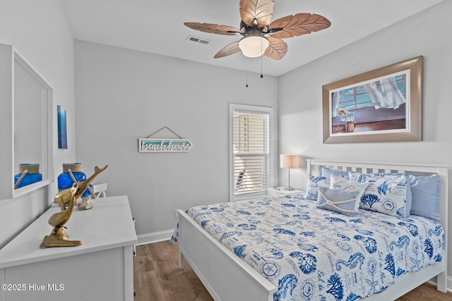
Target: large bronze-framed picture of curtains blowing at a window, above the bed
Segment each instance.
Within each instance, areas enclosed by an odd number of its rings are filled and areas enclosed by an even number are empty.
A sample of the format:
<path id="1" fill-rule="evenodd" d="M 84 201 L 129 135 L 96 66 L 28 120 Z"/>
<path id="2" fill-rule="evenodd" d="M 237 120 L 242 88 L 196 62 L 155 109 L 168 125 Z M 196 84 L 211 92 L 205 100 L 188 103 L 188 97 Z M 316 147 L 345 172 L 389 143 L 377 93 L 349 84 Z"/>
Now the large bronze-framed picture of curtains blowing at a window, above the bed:
<path id="1" fill-rule="evenodd" d="M 323 143 L 422 140 L 423 56 L 322 87 Z"/>

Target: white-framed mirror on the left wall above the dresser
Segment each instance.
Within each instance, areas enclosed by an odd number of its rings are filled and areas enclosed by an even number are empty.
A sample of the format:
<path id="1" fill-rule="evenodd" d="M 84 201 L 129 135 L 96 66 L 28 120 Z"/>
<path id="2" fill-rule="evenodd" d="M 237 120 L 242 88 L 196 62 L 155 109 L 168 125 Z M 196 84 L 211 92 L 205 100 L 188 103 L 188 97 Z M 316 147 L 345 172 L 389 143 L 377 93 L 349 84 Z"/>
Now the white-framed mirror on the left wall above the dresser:
<path id="1" fill-rule="evenodd" d="M 10 199 L 53 181 L 53 88 L 10 45 L 0 44 L 0 66 L 0 199 Z M 19 164 L 39 164 L 42 180 L 14 189 Z"/>

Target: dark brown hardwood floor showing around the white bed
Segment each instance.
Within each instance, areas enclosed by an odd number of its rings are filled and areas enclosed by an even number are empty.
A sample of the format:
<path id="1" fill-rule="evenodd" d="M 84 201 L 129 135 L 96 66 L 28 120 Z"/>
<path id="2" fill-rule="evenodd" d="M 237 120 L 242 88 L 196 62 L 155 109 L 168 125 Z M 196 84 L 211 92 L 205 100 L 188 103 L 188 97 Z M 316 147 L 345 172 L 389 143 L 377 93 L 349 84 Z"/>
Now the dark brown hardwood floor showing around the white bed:
<path id="1" fill-rule="evenodd" d="M 213 300 L 189 264 L 185 262 L 184 269 L 179 269 L 179 245 L 171 245 L 169 241 L 137 246 L 133 276 L 135 301 Z M 397 299 L 427 300 L 452 301 L 452 293 L 441 293 L 426 283 Z"/>

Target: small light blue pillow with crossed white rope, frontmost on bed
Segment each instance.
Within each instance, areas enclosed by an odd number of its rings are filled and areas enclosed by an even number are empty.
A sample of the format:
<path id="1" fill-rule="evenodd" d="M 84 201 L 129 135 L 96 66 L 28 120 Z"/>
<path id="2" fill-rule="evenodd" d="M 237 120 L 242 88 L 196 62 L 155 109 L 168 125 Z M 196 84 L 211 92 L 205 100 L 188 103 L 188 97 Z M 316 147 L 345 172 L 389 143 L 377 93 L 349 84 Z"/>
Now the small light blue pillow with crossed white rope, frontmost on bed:
<path id="1" fill-rule="evenodd" d="M 359 191 L 343 191 L 331 188 L 319 188 L 319 197 L 317 198 L 316 207 L 336 211 L 342 214 L 352 214 L 358 212 Z"/>

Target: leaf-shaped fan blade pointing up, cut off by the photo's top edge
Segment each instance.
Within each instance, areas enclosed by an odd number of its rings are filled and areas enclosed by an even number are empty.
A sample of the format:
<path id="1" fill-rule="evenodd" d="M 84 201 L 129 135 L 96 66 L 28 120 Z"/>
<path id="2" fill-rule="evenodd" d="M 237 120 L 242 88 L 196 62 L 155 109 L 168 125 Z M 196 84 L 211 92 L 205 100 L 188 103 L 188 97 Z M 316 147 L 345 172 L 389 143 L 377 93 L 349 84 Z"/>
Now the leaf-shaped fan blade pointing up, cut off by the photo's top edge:
<path id="1" fill-rule="evenodd" d="M 263 28 L 270 23 L 273 14 L 272 0 L 240 0 L 240 18 L 242 21 L 253 27 L 253 20 L 256 19 L 258 28 Z"/>

